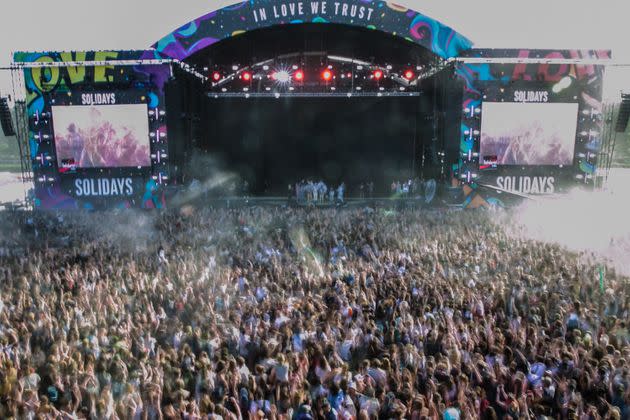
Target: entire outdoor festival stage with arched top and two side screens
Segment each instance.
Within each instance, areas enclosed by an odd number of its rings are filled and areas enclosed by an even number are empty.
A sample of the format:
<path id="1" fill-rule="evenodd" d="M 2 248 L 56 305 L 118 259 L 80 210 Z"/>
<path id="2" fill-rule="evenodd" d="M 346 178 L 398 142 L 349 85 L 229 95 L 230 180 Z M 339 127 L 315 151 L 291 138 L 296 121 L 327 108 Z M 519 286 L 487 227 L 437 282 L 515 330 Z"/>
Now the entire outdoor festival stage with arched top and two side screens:
<path id="1" fill-rule="evenodd" d="M 610 55 L 475 49 L 380 1 L 251 1 L 146 51 L 16 53 L 17 128 L 38 209 L 169 207 L 221 179 L 260 205 L 301 181 L 353 197 L 415 179 L 504 205 L 593 187 Z"/>

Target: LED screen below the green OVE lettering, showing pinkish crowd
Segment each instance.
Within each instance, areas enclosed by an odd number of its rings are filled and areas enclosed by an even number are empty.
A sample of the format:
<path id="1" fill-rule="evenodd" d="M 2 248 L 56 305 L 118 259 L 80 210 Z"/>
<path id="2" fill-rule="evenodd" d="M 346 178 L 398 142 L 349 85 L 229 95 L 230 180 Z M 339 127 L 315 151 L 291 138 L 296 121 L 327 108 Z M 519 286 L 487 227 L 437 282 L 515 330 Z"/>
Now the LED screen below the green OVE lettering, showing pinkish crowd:
<path id="1" fill-rule="evenodd" d="M 59 170 L 150 166 L 146 104 L 53 106 Z"/>

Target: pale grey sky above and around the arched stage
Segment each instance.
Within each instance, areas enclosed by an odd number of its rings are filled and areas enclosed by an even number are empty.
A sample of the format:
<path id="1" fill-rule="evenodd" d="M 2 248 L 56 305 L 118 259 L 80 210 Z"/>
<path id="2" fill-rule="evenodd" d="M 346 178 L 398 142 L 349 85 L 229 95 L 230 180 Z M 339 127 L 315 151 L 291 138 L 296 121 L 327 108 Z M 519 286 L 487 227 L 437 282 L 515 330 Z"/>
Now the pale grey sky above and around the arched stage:
<path id="1" fill-rule="evenodd" d="M 0 67 L 13 51 L 145 49 L 234 0 L 2 0 Z M 628 0 L 398 0 L 479 48 L 611 49 L 630 65 Z M 630 91 L 630 66 L 611 68 L 605 95 Z M 0 71 L 0 93 L 12 92 Z"/>

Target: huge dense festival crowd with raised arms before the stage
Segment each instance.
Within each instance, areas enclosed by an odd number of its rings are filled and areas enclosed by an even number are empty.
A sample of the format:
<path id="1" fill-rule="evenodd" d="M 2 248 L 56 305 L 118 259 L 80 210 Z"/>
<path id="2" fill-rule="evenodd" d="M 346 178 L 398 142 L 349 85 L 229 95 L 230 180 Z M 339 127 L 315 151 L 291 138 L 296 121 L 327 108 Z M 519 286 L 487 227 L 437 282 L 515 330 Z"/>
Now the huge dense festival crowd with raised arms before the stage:
<path id="1" fill-rule="evenodd" d="M 509 217 L 0 214 L 0 418 L 630 418 L 628 279 Z"/>

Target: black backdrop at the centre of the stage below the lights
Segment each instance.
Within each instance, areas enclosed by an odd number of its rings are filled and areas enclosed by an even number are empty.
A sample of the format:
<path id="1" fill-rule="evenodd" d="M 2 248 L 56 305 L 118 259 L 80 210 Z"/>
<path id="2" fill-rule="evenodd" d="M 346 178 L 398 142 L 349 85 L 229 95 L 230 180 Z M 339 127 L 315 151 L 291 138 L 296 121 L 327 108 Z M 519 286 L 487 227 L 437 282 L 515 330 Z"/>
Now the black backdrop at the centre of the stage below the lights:
<path id="1" fill-rule="evenodd" d="M 302 179 L 344 181 L 350 195 L 372 181 L 376 194 L 387 194 L 393 180 L 419 174 L 423 142 L 433 135 L 418 97 L 203 102 L 195 141 L 201 165 L 190 175 L 236 173 L 257 195 L 284 195 Z"/>

